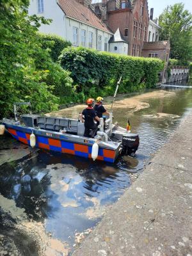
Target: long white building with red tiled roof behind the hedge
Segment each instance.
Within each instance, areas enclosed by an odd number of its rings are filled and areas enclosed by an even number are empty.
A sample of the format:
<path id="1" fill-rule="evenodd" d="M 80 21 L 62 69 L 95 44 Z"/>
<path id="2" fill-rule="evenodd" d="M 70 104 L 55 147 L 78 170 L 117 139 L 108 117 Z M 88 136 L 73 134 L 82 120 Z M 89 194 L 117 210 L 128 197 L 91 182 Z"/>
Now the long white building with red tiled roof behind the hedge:
<path id="1" fill-rule="evenodd" d="M 51 24 L 40 26 L 42 33 L 61 36 L 74 46 L 109 51 L 113 33 L 92 10 L 75 0 L 31 0 L 28 13 L 52 20 Z"/>

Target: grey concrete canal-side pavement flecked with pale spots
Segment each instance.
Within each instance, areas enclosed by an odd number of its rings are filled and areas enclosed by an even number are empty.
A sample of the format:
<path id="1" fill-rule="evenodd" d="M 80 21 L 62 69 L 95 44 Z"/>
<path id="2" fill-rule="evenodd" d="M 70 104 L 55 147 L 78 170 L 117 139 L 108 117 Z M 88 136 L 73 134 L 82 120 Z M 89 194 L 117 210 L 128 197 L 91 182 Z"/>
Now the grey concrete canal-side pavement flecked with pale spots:
<path id="1" fill-rule="evenodd" d="M 192 256 L 192 114 L 73 256 Z"/>

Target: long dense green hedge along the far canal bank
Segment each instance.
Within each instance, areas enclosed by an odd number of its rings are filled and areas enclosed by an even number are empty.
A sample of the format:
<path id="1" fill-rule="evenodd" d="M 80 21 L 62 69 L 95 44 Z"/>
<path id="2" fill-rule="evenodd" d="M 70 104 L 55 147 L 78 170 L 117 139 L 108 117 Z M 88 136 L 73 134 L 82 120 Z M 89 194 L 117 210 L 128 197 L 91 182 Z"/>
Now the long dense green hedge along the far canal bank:
<path id="1" fill-rule="evenodd" d="M 120 76 L 123 92 L 129 91 L 130 82 L 134 86 L 143 83 L 146 88 L 151 88 L 156 85 L 157 75 L 163 69 L 163 61 L 156 58 L 136 58 L 83 47 L 64 49 L 59 60 L 61 67 L 69 70 L 74 83 L 78 84 L 77 92 L 84 95 L 92 92 L 92 97 L 98 90 L 113 93 Z"/>

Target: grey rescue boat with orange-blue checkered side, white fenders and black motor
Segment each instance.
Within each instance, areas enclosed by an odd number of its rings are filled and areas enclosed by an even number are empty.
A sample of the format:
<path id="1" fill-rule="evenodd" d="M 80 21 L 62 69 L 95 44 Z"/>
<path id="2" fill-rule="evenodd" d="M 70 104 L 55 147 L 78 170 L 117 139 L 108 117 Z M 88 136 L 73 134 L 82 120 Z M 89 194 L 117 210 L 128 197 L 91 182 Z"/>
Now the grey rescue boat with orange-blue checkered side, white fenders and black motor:
<path id="1" fill-rule="evenodd" d="M 13 138 L 31 147 L 110 163 L 122 154 L 134 154 L 139 147 L 138 134 L 128 132 L 118 123 L 113 124 L 112 113 L 106 120 L 100 118 L 94 138 L 86 138 L 84 124 L 80 120 L 32 114 L 20 115 L 18 120 L 16 105 L 14 110 L 15 119 L 1 120 L 1 134 L 5 129 Z"/>

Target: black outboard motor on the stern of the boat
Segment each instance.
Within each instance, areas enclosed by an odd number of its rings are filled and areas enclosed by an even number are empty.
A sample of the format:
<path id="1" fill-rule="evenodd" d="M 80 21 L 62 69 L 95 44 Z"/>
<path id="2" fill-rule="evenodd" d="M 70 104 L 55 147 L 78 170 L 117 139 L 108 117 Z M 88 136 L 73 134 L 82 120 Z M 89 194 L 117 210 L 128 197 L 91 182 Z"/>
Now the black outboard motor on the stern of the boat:
<path id="1" fill-rule="evenodd" d="M 129 155 L 135 153 L 140 145 L 140 138 L 138 134 L 127 133 L 122 138 L 122 154 Z"/>

